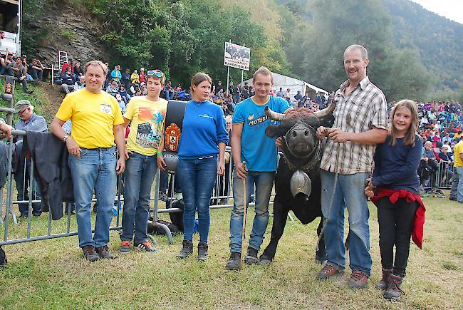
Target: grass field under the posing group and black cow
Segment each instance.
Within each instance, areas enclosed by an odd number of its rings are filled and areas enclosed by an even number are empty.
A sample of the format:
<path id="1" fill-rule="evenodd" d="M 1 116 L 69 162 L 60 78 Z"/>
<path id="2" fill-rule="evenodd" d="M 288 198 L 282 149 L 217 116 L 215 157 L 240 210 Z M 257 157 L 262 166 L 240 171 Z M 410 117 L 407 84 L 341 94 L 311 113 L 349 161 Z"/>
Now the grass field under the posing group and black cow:
<path id="1" fill-rule="evenodd" d="M 3 309 L 462 309 L 463 207 L 442 198 L 425 198 L 427 221 L 422 250 L 412 244 L 399 302 L 382 298 L 378 222 L 370 205 L 373 271 L 367 289 L 349 289 L 350 271 L 320 281 L 314 261 L 316 225 L 288 222 L 275 261 L 267 266 L 225 269 L 229 257 L 230 210 L 213 210 L 209 260 L 194 255 L 176 259 L 182 236 L 169 245 L 157 237 L 157 252 L 132 251 L 114 260 L 86 262 L 77 237 L 5 246 L 9 264 L 0 271 Z M 252 213 L 252 212 L 251 212 Z M 250 213 L 250 215 L 251 215 Z M 252 217 L 252 215 L 251 215 Z M 249 217 L 248 223 L 251 223 Z M 167 219 L 167 215 L 162 215 Z M 10 221 L 10 224 L 12 221 Z M 32 234 L 46 233 L 47 217 L 32 219 Z M 26 234 L 27 222 L 13 227 L 11 237 Z M 74 216 L 71 229 L 76 227 Z M 1 227 L 3 230 L 3 227 Z M 53 222 L 64 232 L 66 219 Z M 269 242 L 271 222 L 264 247 Z M 249 232 L 249 229 L 248 229 Z M 2 236 L 3 236 L 3 232 Z M 195 244 L 198 237 L 195 236 Z M 120 245 L 111 232 L 110 248 Z M 260 254 L 260 253 L 259 253 Z"/>

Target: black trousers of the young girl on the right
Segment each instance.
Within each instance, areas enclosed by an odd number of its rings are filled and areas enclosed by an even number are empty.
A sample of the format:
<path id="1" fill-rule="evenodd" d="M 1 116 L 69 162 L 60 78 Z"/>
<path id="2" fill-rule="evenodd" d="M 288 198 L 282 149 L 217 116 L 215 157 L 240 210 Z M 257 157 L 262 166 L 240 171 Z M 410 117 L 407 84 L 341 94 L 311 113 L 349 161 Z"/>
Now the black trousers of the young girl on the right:
<path id="1" fill-rule="evenodd" d="M 392 269 L 392 273 L 400 277 L 405 277 L 417 207 L 418 202 L 408 203 L 405 199 L 392 204 L 389 197 L 383 197 L 378 202 L 381 264 L 383 269 Z"/>

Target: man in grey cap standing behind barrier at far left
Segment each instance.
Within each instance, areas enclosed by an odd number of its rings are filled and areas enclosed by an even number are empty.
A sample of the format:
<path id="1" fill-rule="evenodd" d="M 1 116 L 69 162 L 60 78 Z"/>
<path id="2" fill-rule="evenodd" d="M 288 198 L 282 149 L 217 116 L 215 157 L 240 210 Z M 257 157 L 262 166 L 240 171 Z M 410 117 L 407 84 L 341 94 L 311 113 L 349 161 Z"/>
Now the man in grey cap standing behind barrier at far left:
<path id="1" fill-rule="evenodd" d="M 14 124 L 15 130 L 26 130 L 26 131 L 37 131 L 44 133 L 48 130 L 46 126 L 45 118 L 41 115 L 33 113 L 33 105 L 29 100 L 19 100 L 14 105 L 14 113 L 18 113 L 20 120 Z M 18 135 L 16 137 L 16 145 L 21 145 L 23 136 Z M 16 181 L 16 190 L 18 191 L 18 200 L 29 200 L 29 194 L 32 195 L 32 200 L 41 200 L 41 189 L 36 178 L 33 177 L 32 184 L 28 184 L 30 180 L 31 173 L 31 159 L 24 157 L 22 152 L 19 152 L 19 165 L 16 168 L 14 173 L 14 180 Z M 30 188 L 30 192 L 28 191 Z M 21 213 L 20 217 L 28 217 L 28 203 L 19 204 L 19 212 Z M 38 202 L 33 202 L 32 204 L 32 215 L 34 217 L 39 217 L 42 213 L 41 204 Z"/>

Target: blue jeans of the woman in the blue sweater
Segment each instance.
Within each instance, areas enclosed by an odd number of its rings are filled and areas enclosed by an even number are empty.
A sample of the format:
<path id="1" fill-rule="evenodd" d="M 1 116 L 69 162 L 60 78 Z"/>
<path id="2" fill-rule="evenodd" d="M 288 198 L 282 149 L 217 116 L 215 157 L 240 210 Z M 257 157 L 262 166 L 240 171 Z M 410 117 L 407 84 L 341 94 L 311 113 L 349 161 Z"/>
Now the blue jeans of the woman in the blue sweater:
<path id="1" fill-rule="evenodd" d="M 193 239 L 194 214 L 198 211 L 199 241 L 209 237 L 209 202 L 217 177 L 217 155 L 203 159 L 179 159 L 177 177 L 183 194 L 183 239 Z"/>

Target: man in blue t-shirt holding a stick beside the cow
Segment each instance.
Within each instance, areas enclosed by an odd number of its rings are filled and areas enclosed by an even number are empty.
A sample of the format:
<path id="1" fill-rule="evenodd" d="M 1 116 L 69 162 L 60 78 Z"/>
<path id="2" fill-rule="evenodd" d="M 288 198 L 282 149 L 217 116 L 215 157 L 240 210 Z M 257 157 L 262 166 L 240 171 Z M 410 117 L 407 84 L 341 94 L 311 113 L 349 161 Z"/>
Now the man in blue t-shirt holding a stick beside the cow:
<path id="1" fill-rule="evenodd" d="M 269 138 L 265 130 L 269 125 L 276 125 L 265 114 L 265 107 L 285 113 L 291 107 L 280 97 L 269 95 L 274 79 L 268 68 L 259 68 L 253 76 L 253 86 L 256 91 L 251 98 L 236 105 L 233 114 L 233 129 L 231 130 L 231 153 L 235 164 L 233 174 L 234 206 L 230 217 L 230 259 L 227 269 L 239 269 L 241 260 L 241 237 L 244 214 L 243 182 L 246 178 L 246 207 L 249 204 L 251 192 L 256 187 L 254 223 L 249 247 L 246 254 L 246 264 L 257 262 L 257 252 L 264 240 L 264 233 L 269 223 L 269 201 L 277 166 L 278 151 L 275 138 Z M 242 167 L 241 162 L 246 162 Z"/>

